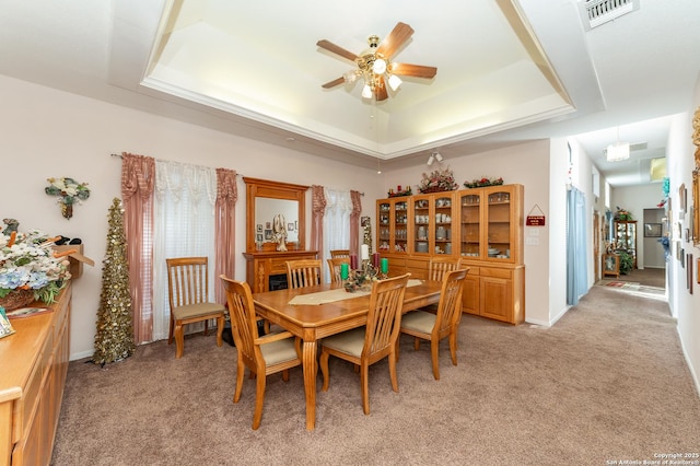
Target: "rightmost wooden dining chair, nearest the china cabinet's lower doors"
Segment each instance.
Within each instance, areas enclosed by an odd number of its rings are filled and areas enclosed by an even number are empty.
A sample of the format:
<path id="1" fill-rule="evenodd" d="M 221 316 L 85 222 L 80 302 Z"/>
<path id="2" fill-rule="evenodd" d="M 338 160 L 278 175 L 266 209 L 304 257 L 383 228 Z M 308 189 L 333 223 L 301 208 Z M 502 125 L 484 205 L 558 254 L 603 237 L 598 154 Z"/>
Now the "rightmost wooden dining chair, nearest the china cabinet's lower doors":
<path id="1" fill-rule="evenodd" d="M 457 365 L 457 330 L 462 316 L 462 292 L 468 268 L 445 272 L 440 292 L 440 303 L 435 314 L 421 310 L 411 311 L 401 317 L 401 334 L 415 337 L 415 349 L 420 349 L 420 340 L 430 341 L 430 354 L 433 364 L 433 376 L 440 380 L 440 362 L 438 352 L 440 340 L 450 337 L 450 354 L 452 364 Z M 398 343 L 397 343 L 398 347 Z M 398 359 L 398 348 L 397 348 Z"/>

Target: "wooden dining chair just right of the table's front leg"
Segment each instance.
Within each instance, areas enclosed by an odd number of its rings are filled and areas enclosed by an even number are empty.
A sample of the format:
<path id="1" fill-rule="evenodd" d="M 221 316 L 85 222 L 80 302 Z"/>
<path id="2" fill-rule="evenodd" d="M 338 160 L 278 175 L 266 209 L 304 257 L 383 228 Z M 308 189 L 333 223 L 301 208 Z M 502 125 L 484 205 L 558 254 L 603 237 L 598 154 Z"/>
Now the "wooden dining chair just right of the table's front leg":
<path id="1" fill-rule="evenodd" d="M 320 371 L 323 391 L 328 391 L 328 358 L 335 356 L 360 366 L 362 409 L 370 413 L 370 365 L 388 357 L 392 388 L 398 393 L 396 348 L 401 322 L 404 294 L 410 273 L 375 281 L 370 294 L 370 311 L 364 327 L 353 328 L 322 340 Z"/>

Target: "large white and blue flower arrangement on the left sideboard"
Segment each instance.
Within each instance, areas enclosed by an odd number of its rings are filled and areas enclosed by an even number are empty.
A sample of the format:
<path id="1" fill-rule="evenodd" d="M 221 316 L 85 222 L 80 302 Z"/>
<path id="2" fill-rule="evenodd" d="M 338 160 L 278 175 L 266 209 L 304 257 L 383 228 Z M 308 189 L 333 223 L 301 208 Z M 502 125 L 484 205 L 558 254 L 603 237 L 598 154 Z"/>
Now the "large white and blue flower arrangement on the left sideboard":
<path id="1" fill-rule="evenodd" d="M 38 230 L 0 235 L 0 299 L 12 293 L 30 294 L 28 302 L 55 301 L 71 276 L 65 257 L 70 252 L 55 253 L 54 240 Z"/>

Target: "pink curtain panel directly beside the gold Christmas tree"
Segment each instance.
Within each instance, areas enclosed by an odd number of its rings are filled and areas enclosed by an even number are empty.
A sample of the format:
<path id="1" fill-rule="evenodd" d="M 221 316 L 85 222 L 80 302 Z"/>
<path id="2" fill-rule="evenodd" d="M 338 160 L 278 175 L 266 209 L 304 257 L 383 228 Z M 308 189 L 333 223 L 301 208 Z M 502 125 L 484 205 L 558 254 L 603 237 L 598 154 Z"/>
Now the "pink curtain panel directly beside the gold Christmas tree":
<path id="1" fill-rule="evenodd" d="M 127 238 L 133 341 L 153 339 L 153 187 L 155 161 L 121 153 L 121 198 Z"/>

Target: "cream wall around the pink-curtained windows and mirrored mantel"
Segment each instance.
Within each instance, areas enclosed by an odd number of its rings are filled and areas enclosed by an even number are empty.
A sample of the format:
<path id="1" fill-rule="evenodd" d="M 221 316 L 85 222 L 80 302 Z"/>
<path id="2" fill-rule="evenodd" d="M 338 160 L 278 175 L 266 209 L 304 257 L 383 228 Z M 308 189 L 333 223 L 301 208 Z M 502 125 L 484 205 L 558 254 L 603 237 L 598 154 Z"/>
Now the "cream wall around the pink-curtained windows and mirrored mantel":
<path id="1" fill-rule="evenodd" d="M 107 210 L 120 198 L 122 151 L 203 166 L 226 167 L 265 179 L 363 191 L 363 215 L 374 218 L 374 200 L 383 196 L 374 170 L 319 159 L 118 105 L 77 96 L 0 75 L 0 219 L 15 218 L 21 230 L 80 237 L 95 267 L 84 267 L 75 280 L 71 317 L 71 359 L 93 351 L 102 289 Z M 61 217 L 56 199 L 44 194 L 48 177 L 70 176 L 88 182 L 90 199 L 75 206 L 74 217 Z M 311 212 L 307 196 L 306 211 Z M 245 251 L 245 185 L 238 182 L 236 252 Z M 306 231 L 311 231 L 311 214 Z M 245 280 L 244 261 L 236 261 L 237 280 Z"/>

